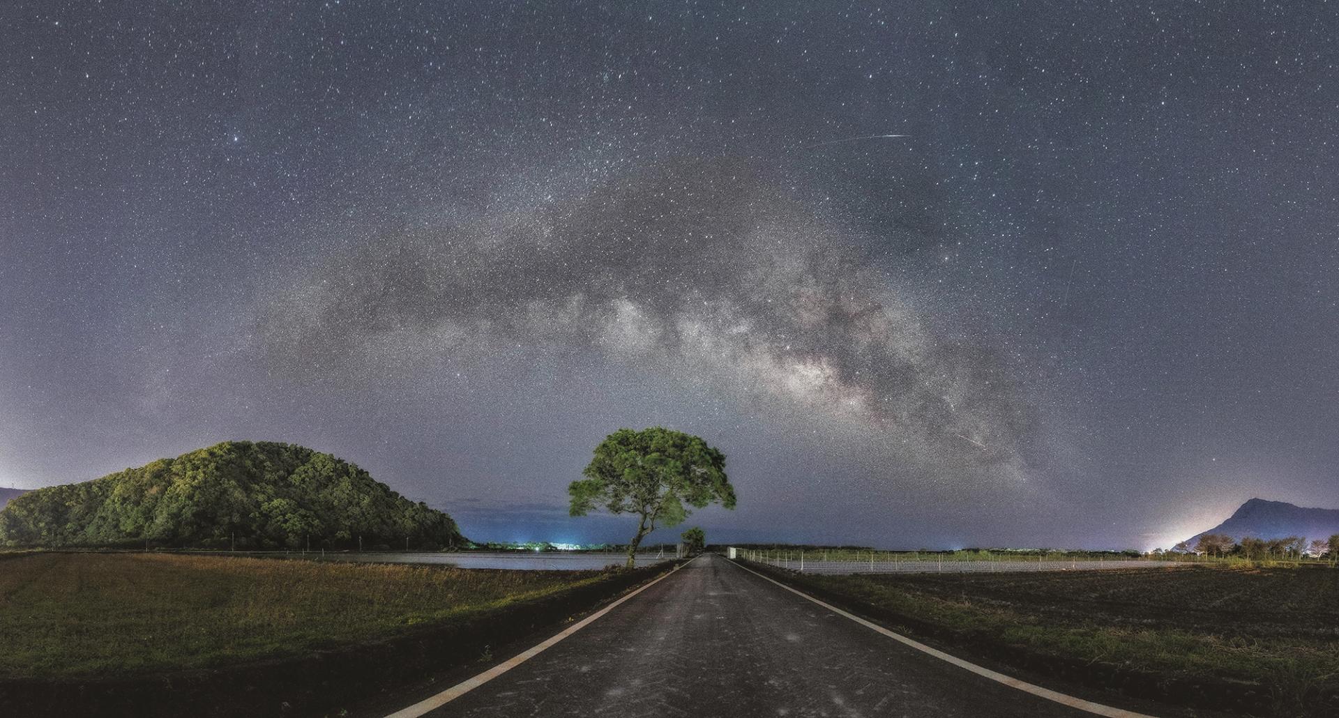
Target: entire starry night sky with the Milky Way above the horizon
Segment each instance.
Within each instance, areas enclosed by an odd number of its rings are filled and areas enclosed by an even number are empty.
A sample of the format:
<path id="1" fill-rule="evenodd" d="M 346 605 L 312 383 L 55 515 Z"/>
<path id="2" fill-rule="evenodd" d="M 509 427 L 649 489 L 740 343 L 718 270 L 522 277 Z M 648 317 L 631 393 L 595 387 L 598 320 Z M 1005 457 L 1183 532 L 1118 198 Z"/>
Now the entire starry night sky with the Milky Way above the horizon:
<path id="1" fill-rule="evenodd" d="M 1003 5 L 4 3 L 0 485 L 287 441 L 625 540 L 566 484 L 664 425 L 710 541 L 1339 506 L 1339 13 Z"/>

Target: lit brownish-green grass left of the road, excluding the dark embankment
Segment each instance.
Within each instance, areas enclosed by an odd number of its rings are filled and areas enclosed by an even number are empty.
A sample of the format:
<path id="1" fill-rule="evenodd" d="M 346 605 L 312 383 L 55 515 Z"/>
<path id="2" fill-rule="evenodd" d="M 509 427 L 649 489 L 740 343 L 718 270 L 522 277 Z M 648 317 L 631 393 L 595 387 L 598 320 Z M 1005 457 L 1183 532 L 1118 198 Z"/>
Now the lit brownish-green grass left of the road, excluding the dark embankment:
<path id="1" fill-rule="evenodd" d="M 601 576 L 138 553 L 7 556 L 0 678 L 291 655 L 467 619 Z"/>

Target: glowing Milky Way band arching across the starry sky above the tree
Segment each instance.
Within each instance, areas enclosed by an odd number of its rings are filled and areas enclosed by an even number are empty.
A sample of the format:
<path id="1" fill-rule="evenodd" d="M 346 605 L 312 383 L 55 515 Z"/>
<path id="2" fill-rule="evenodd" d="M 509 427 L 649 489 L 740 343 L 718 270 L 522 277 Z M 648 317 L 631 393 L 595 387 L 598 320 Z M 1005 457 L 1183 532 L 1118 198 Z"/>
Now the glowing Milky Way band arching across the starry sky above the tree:
<path id="1" fill-rule="evenodd" d="M 564 201 L 368 241 L 268 304 L 295 372 L 536 342 L 706 380 L 923 463 L 1023 476 L 1010 368 L 936 336 L 850 233 L 740 167 L 657 167 Z"/>

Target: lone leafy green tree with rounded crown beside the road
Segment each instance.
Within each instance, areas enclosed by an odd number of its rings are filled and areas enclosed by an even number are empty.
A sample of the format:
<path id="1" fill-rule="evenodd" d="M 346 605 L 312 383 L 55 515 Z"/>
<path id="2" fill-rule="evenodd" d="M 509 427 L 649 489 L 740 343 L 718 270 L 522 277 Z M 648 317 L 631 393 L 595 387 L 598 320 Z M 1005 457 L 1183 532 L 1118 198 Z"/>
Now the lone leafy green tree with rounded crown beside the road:
<path id="1" fill-rule="evenodd" d="M 604 508 L 640 517 L 637 533 L 628 544 L 628 568 L 641 540 L 657 526 L 682 524 L 691 513 L 687 506 L 735 508 L 735 489 L 726 477 L 726 454 L 698 437 L 660 426 L 609 434 L 581 473 L 585 478 L 568 486 L 572 516 Z"/>

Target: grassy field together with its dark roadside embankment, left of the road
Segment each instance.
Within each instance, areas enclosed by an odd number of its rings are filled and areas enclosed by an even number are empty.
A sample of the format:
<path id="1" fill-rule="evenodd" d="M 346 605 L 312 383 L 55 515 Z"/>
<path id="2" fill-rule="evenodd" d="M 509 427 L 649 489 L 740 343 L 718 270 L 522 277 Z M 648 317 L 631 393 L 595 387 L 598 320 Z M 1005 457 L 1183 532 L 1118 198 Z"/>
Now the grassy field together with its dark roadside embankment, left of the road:
<path id="1" fill-rule="evenodd" d="M 15 556 L 0 569 L 0 714 L 337 711 L 387 682 L 475 662 L 667 568 Z"/>

